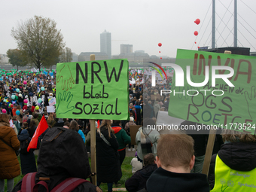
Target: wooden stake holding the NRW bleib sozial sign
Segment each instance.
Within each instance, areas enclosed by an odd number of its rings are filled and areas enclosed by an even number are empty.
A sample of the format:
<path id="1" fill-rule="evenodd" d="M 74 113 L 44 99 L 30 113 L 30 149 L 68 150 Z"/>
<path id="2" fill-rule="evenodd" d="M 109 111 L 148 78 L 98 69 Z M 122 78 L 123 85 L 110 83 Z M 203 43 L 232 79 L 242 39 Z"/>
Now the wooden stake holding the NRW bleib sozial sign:
<path id="1" fill-rule="evenodd" d="M 95 61 L 95 55 L 90 55 L 90 61 Z M 90 120 L 90 163 L 91 172 L 96 172 L 96 126 L 95 120 Z M 97 176 L 92 176 L 93 184 L 97 184 Z"/>

